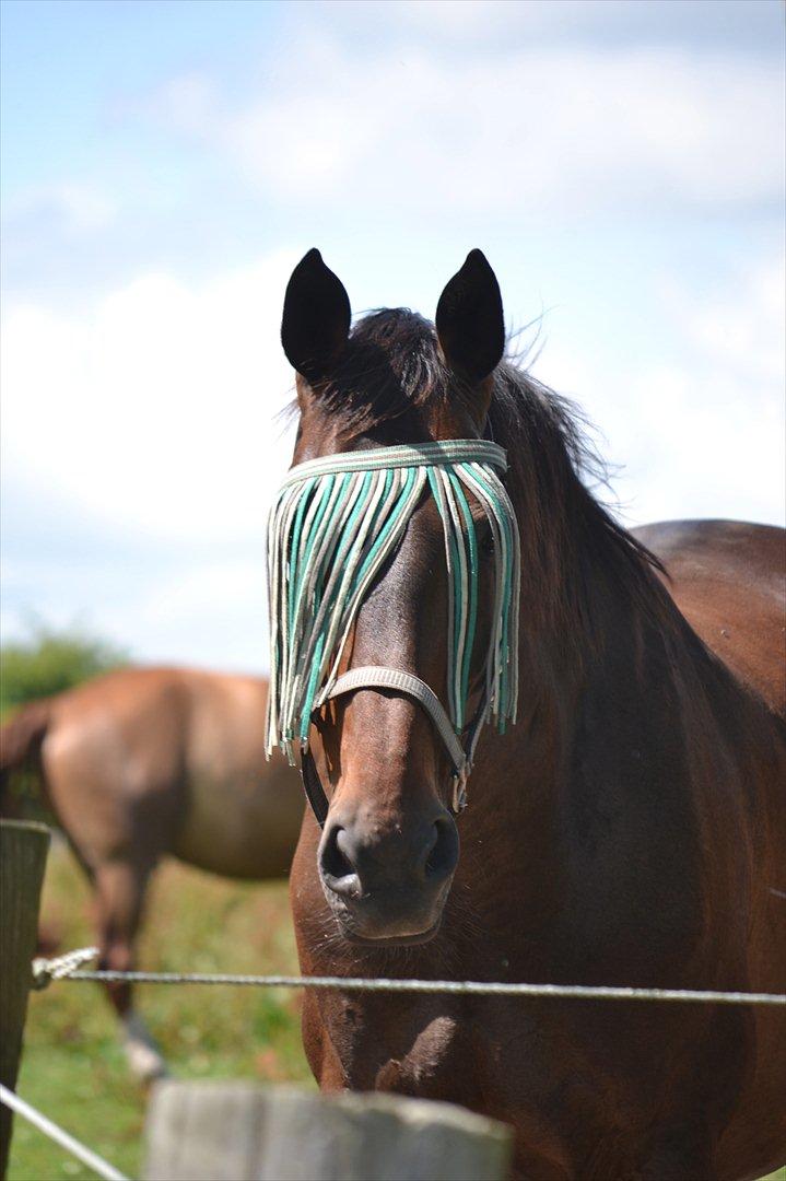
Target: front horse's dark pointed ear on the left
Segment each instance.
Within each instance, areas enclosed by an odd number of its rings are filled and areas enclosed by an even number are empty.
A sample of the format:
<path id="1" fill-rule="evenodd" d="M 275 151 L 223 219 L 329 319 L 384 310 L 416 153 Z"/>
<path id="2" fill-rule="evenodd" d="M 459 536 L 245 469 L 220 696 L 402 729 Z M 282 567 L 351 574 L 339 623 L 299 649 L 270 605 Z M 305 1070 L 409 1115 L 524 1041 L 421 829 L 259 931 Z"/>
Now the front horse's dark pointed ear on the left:
<path id="1" fill-rule="evenodd" d="M 343 283 L 319 250 L 309 250 L 289 278 L 281 320 L 283 351 L 307 381 L 330 372 L 346 347 L 351 319 Z"/>

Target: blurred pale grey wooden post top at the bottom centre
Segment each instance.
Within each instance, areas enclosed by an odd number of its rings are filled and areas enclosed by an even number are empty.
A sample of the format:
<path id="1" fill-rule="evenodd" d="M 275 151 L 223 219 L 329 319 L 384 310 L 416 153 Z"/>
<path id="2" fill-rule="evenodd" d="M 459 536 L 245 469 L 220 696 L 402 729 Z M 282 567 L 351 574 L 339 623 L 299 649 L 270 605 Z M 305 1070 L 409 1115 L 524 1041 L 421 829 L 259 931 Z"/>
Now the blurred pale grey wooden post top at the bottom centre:
<path id="1" fill-rule="evenodd" d="M 452 1103 L 158 1083 L 146 1181 L 503 1181 L 511 1131 Z"/>

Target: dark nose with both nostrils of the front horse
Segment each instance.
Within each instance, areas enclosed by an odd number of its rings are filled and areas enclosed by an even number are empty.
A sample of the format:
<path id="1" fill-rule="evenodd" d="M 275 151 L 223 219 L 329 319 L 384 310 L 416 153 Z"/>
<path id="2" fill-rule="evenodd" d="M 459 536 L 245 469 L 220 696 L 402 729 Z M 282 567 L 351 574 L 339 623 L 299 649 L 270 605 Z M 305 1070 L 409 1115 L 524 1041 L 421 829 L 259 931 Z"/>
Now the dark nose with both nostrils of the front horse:
<path id="1" fill-rule="evenodd" d="M 320 847 L 327 888 L 351 902 L 389 888 L 435 890 L 458 861 L 458 831 L 445 811 L 380 834 L 359 821 L 329 820 Z"/>

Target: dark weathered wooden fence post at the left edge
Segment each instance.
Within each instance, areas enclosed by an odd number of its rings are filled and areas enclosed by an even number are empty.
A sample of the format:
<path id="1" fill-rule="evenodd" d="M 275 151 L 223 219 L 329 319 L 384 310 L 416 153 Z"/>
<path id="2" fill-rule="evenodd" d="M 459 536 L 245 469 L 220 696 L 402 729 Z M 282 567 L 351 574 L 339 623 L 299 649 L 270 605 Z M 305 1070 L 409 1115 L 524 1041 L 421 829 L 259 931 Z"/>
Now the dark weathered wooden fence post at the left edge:
<path id="1" fill-rule="evenodd" d="M 12 1091 L 19 1072 L 48 847 L 45 824 L 0 821 L 0 1083 Z M 0 1104 L 0 1179 L 8 1166 L 11 1121 L 11 1111 Z"/>

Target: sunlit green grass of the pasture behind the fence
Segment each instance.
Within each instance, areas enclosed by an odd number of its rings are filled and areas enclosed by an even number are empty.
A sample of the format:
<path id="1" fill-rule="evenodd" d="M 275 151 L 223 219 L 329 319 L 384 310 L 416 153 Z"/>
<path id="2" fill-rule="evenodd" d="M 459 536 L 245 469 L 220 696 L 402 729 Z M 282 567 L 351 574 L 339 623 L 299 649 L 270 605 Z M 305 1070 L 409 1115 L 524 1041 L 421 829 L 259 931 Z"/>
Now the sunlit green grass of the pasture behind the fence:
<path id="1" fill-rule="evenodd" d="M 42 916 L 63 951 L 93 941 L 87 887 L 60 843 L 50 854 Z M 286 883 L 240 885 L 166 862 L 150 892 L 140 966 L 296 972 Z M 296 992 L 148 985 L 137 990 L 137 1001 L 178 1078 L 313 1085 Z M 97 986 L 52 984 L 31 997 L 19 1094 L 119 1169 L 138 1175 L 145 1095 L 129 1075 L 114 1016 Z M 9 1181 L 92 1175 L 15 1121 Z M 786 1169 L 767 1181 L 786 1181 Z"/>

